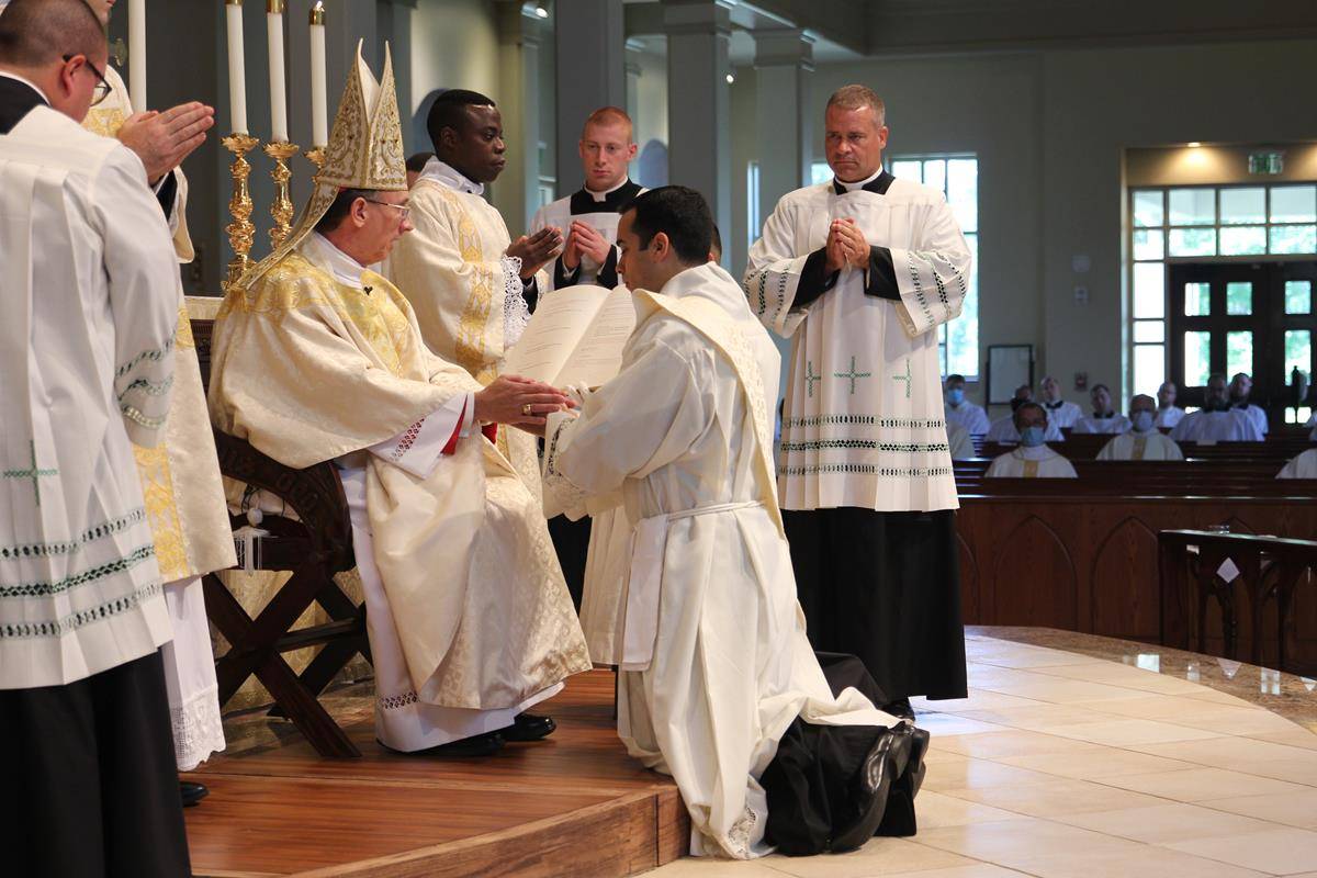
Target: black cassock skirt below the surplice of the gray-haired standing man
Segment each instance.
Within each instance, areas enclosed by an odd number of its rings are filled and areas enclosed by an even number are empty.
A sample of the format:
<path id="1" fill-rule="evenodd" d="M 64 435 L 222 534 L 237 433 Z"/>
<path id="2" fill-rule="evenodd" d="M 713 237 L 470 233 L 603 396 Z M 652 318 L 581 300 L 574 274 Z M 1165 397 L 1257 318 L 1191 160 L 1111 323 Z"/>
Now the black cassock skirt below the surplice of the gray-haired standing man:
<path id="1" fill-rule="evenodd" d="M 964 698 L 952 511 L 782 511 L 814 649 L 857 656 L 888 700 Z"/>

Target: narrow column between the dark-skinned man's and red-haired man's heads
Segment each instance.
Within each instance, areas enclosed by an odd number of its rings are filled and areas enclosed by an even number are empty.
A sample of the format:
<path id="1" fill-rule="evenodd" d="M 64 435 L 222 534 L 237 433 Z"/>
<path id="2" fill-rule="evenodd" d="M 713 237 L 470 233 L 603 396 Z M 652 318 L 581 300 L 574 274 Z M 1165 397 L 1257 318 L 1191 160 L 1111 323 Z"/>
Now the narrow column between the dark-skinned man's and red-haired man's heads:
<path id="1" fill-rule="evenodd" d="M 540 21 L 522 0 L 495 7 L 499 41 L 499 111 L 507 167 L 493 186 L 491 201 L 515 240 L 537 205 L 540 179 Z"/>

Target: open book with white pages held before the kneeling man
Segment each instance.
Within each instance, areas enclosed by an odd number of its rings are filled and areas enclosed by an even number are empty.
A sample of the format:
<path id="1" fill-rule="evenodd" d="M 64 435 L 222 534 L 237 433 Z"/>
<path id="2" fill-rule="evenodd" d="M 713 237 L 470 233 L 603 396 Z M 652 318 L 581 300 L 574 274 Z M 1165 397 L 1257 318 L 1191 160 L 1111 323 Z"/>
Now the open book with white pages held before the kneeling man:
<path id="1" fill-rule="evenodd" d="M 554 387 L 598 387 L 622 370 L 622 349 L 635 328 L 626 287 L 564 287 L 540 299 L 503 373 Z"/>

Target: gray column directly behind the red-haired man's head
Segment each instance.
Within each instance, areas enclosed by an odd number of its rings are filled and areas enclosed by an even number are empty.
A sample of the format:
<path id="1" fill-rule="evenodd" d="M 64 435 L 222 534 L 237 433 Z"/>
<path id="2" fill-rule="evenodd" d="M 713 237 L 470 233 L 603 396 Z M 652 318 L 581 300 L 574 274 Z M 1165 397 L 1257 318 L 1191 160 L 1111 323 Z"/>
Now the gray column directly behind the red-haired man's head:
<path id="1" fill-rule="evenodd" d="M 586 117 L 627 103 L 622 0 L 557 0 L 553 4 L 557 70 L 558 195 L 581 186 L 577 142 Z"/>

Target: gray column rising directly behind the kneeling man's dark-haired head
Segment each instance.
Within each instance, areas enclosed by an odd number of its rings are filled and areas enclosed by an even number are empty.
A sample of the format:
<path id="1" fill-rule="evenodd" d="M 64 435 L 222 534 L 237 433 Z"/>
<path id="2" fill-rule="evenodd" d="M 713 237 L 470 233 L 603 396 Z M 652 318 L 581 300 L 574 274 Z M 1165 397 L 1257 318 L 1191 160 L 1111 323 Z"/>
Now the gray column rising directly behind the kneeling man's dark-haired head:
<path id="1" fill-rule="evenodd" d="M 709 199 L 731 234 L 731 18 L 715 0 L 668 0 L 668 179 Z"/>

